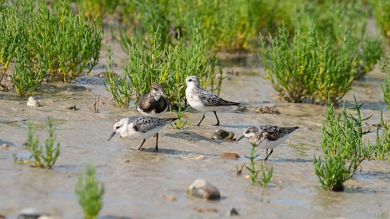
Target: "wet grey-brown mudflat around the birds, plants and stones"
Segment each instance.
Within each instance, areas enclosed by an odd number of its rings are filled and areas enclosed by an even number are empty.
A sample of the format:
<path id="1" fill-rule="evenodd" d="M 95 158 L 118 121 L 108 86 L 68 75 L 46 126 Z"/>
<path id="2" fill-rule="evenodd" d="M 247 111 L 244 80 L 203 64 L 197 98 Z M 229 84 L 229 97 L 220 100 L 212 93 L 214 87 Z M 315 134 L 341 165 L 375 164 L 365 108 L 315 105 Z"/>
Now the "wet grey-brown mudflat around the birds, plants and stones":
<path id="1" fill-rule="evenodd" d="M 127 60 L 118 45 L 110 42 L 114 51 L 116 72 Z M 23 208 L 36 208 L 58 219 L 80 219 L 82 210 L 74 192 L 79 171 L 86 164 L 97 166 L 97 179 L 105 185 L 101 219 L 109 218 L 224 218 L 234 207 L 241 218 L 389 218 L 390 163 L 363 162 L 362 172 L 346 183 L 346 191 L 324 191 L 317 183 L 312 158 L 321 154 L 322 106 L 275 101 L 275 91 L 259 74 L 262 69 L 255 55 L 237 61 L 224 61 L 228 74 L 220 96 L 242 103 L 244 108 L 226 108 L 218 112 L 221 126 L 236 135 L 247 125 L 273 124 L 298 126 L 290 138 L 278 146 L 270 160 L 256 161 L 267 168 L 273 166 L 269 186 L 254 185 L 245 176 L 236 176 L 236 166 L 248 164 L 249 143 L 217 142 L 211 139 L 215 127 L 213 113 L 197 127 L 201 113 L 185 113 L 188 123 L 181 130 L 169 126 L 160 131 L 159 151 L 153 153 L 155 139 L 147 139 L 144 150 L 141 141 L 115 136 L 107 141 L 117 118 L 137 115 L 135 109 L 116 108 L 111 95 L 104 90 L 98 74 L 107 58 L 102 49 L 101 64 L 89 75 L 78 78 L 74 85 L 49 83 L 43 85 L 36 98 L 42 107 L 27 107 L 27 97 L 11 92 L 0 93 L 0 213 L 16 218 Z M 385 107 L 379 82 L 383 74 L 374 69 L 363 80 L 355 81 L 343 98 L 352 100 L 355 93 L 364 101 L 363 115 L 374 114 L 370 125 L 379 123 L 380 108 Z M 89 91 L 87 92 L 86 89 Z M 88 109 L 93 97 L 100 94 L 99 113 Z M 76 104 L 77 110 L 65 106 Z M 259 106 L 274 107 L 279 115 L 258 114 Z M 47 136 L 46 118 L 54 119 L 55 134 L 61 154 L 52 170 L 15 164 L 12 154 L 27 158 L 22 144 L 27 138 L 27 115 L 31 117 L 41 142 Z M 168 112 L 166 117 L 175 116 Z M 387 110 L 385 118 L 389 118 Z M 234 152 L 239 160 L 221 159 L 222 152 Z M 264 158 L 265 150 L 259 150 Z M 219 190 L 221 201 L 195 201 L 186 197 L 188 186 L 196 179 L 206 179 Z M 176 201 L 162 199 L 173 196 Z M 198 212 L 203 209 L 206 212 Z M 213 211 L 207 211 L 212 209 Z M 216 212 L 215 212 L 216 211 Z"/>

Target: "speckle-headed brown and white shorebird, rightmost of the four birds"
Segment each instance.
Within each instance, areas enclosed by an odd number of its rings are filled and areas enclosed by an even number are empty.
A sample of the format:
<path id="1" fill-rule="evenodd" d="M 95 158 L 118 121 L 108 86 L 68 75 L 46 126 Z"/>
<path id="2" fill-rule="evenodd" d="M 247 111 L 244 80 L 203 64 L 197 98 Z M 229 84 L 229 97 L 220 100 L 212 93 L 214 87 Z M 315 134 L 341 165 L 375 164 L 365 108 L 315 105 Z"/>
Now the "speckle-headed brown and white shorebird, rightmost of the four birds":
<path id="1" fill-rule="evenodd" d="M 259 148 L 267 149 L 266 158 L 272 154 L 273 148 L 280 145 L 284 140 L 286 140 L 289 135 L 299 127 L 278 127 L 278 126 L 247 126 L 242 131 L 242 136 L 239 137 L 236 142 L 242 138 L 247 138 L 249 142 L 256 143 L 256 146 Z M 268 149 L 271 149 L 270 154 L 268 154 Z"/>

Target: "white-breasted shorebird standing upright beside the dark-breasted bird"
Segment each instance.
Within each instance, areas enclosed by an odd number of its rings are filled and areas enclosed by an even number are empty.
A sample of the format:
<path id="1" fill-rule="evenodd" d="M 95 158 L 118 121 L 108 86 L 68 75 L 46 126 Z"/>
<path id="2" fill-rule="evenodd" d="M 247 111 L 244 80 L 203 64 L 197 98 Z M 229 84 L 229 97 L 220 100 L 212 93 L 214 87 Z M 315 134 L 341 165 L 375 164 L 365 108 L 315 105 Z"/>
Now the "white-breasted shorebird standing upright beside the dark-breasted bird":
<path id="1" fill-rule="evenodd" d="M 218 116 L 216 116 L 216 112 L 215 112 L 216 110 L 223 109 L 227 106 L 240 105 L 240 103 L 224 100 L 210 91 L 203 90 L 202 88 L 200 88 L 199 78 L 196 76 L 187 77 L 186 81 L 180 84 L 179 87 L 184 85 L 187 85 L 186 88 L 187 102 L 195 110 L 199 110 L 203 112 L 203 117 L 197 126 L 199 126 L 200 123 L 203 121 L 205 112 L 211 112 L 211 111 L 214 112 L 216 118 L 216 124 L 213 126 L 218 126 L 219 120 L 218 120 Z"/>

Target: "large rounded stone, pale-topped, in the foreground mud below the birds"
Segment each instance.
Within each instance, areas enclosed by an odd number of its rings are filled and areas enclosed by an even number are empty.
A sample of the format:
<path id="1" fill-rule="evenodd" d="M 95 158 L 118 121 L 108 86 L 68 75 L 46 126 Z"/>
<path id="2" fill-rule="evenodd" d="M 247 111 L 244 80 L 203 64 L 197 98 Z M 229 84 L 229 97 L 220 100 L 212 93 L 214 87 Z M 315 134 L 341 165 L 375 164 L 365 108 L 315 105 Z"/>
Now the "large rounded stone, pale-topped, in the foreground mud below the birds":
<path id="1" fill-rule="evenodd" d="M 187 196 L 199 200 L 219 200 L 221 197 L 214 185 L 202 179 L 195 180 L 188 187 Z"/>

